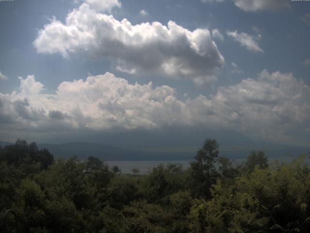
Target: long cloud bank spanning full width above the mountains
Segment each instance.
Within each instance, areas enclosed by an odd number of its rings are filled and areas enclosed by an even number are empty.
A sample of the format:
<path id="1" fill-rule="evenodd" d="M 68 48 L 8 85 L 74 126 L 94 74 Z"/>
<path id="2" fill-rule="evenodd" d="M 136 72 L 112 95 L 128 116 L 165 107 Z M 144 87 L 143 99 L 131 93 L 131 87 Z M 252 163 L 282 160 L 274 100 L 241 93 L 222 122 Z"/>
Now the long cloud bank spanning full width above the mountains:
<path id="1" fill-rule="evenodd" d="M 178 100 L 169 86 L 131 84 L 111 73 L 63 82 L 52 95 L 43 94 L 43 85 L 33 76 L 20 80 L 18 92 L 0 94 L 2 133 L 160 129 L 178 124 L 310 143 L 310 87 L 291 73 L 263 70 L 256 79 L 219 87 L 214 96 L 185 101 Z"/>

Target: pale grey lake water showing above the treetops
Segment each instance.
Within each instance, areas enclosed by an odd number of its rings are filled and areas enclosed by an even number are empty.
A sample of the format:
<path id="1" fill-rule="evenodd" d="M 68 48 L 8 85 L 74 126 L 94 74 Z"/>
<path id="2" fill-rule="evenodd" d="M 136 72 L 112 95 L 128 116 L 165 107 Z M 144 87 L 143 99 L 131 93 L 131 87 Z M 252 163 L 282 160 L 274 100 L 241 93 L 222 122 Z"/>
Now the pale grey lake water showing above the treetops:
<path id="1" fill-rule="evenodd" d="M 291 162 L 296 157 L 276 157 L 276 158 L 268 158 L 269 164 L 279 160 L 280 163 L 287 163 Z M 245 159 L 234 159 L 233 164 L 242 163 Z M 167 165 L 168 163 L 171 164 L 181 164 L 183 168 L 189 167 L 189 163 L 192 160 L 171 160 L 171 161 L 163 161 L 163 160 L 156 160 L 156 161 L 106 161 L 109 166 L 118 166 L 123 174 L 132 173 L 133 168 L 138 168 L 140 170 L 140 174 L 146 174 L 150 169 L 158 166 L 159 164 Z M 306 163 L 310 164 L 310 158 L 307 158 Z"/>

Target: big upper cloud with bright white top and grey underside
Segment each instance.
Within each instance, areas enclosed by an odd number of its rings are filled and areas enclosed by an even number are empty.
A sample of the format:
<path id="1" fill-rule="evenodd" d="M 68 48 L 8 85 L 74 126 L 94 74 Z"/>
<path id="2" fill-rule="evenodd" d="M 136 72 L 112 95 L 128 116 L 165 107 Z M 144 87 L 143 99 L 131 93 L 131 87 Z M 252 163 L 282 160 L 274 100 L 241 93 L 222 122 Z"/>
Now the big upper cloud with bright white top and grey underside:
<path id="1" fill-rule="evenodd" d="M 214 82 L 224 66 L 207 29 L 191 32 L 173 21 L 132 25 L 96 13 L 86 3 L 69 13 L 64 24 L 53 19 L 45 25 L 33 45 L 41 53 L 108 57 L 124 72 L 183 77 L 197 84 Z"/>

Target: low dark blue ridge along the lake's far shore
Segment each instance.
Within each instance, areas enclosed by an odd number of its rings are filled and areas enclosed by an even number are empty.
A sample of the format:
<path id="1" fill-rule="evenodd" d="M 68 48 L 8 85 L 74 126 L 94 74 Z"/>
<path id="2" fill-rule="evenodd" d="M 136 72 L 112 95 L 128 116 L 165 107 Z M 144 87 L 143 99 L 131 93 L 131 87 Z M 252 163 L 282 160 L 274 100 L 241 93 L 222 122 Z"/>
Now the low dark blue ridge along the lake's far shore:
<path id="1" fill-rule="evenodd" d="M 143 146 L 143 145 L 141 145 Z M 105 161 L 113 160 L 192 160 L 199 147 L 159 147 L 142 149 L 120 149 L 107 145 L 85 142 L 65 144 L 38 144 L 39 148 L 47 148 L 56 158 L 76 155 L 86 159 L 93 155 Z M 230 159 L 246 158 L 251 150 L 265 150 L 268 157 L 299 156 L 307 153 L 308 148 L 288 145 L 253 143 L 251 145 L 222 145 L 220 156 Z"/>

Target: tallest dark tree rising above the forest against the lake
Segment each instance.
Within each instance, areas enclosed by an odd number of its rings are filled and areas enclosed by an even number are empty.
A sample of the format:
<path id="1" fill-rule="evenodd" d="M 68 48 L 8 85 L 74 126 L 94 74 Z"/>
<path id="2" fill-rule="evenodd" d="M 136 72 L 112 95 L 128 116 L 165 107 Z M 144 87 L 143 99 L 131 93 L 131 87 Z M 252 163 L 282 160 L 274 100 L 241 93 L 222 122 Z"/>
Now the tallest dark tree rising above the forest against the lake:
<path id="1" fill-rule="evenodd" d="M 210 197 L 210 187 L 217 180 L 215 167 L 218 156 L 218 143 L 215 139 L 206 139 L 202 148 L 197 151 L 195 161 L 190 163 L 194 189 L 200 196 Z"/>

